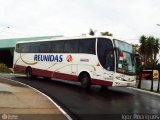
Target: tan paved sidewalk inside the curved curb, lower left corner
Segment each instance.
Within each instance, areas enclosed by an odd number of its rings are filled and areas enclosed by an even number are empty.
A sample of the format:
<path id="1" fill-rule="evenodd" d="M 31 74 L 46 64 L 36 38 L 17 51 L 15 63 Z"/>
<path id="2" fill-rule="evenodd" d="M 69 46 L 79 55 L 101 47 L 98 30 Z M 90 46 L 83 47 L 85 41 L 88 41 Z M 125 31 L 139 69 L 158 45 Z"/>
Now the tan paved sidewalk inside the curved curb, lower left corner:
<path id="1" fill-rule="evenodd" d="M 67 120 L 67 118 L 39 92 L 0 78 L 0 120 Z"/>

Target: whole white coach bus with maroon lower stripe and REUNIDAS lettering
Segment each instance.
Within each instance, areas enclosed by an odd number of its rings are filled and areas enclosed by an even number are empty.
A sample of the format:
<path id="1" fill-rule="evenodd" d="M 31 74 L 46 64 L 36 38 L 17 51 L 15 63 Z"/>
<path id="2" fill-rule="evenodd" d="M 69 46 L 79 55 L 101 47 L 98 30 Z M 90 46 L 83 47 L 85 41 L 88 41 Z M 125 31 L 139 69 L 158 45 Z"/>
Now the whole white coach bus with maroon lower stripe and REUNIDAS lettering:
<path id="1" fill-rule="evenodd" d="M 105 36 L 18 42 L 13 67 L 28 78 L 72 80 L 83 88 L 136 84 L 132 45 Z"/>

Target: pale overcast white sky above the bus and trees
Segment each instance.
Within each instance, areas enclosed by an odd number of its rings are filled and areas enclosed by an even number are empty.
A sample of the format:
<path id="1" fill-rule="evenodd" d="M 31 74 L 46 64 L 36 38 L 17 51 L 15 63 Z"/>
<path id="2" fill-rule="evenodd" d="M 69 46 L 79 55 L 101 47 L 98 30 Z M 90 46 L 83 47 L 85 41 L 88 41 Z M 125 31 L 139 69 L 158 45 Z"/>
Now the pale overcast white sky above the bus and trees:
<path id="1" fill-rule="evenodd" d="M 137 43 L 160 38 L 160 0 L 0 0 L 0 39 L 80 36 L 92 28 Z"/>

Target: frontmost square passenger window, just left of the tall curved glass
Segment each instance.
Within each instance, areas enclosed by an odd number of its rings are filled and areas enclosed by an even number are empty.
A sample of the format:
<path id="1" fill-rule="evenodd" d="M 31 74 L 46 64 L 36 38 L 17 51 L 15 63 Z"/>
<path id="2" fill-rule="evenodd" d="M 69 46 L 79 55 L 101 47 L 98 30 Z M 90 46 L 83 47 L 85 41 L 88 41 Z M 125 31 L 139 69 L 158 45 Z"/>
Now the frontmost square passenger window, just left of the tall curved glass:
<path id="1" fill-rule="evenodd" d="M 79 53 L 95 54 L 95 39 L 80 40 Z"/>

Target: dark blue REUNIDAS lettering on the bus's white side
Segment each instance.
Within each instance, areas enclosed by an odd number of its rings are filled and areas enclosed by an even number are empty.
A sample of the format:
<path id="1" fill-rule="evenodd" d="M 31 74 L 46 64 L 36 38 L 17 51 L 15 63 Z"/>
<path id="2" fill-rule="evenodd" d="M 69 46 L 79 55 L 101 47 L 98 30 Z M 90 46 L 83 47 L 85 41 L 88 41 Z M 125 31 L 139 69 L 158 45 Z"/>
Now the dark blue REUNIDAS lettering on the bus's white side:
<path id="1" fill-rule="evenodd" d="M 44 61 L 44 62 L 62 62 L 63 55 L 34 55 L 34 61 Z"/>

